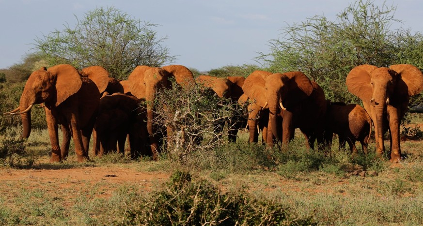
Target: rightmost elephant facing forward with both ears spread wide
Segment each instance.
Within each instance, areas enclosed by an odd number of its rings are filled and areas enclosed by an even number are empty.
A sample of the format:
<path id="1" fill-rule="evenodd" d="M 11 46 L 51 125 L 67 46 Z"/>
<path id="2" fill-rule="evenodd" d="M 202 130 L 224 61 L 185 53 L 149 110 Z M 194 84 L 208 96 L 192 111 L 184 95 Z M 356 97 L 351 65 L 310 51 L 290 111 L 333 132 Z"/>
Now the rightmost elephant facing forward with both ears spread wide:
<path id="1" fill-rule="evenodd" d="M 410 64 L 376 67 L 363 64 L 354 67 L 346 76 L 348 91 L 359 97 L 375 126 L 376 154 L 385 151 L 383 135 L 389 130 L 392 163 L 401 161 L 400 122 L 410 96 L 423 90 L 423 74 Z"/>

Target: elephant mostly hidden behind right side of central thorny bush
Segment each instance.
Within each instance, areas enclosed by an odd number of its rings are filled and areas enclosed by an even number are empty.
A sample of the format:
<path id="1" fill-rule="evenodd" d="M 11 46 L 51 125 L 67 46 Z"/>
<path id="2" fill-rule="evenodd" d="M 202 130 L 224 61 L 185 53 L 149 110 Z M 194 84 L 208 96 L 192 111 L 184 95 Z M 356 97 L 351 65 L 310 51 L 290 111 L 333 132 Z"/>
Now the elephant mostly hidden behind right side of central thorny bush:
<path id="1" fill-rule="evenodd" d="M 238 99 L 244 93 L 242 86 L 244 84 L 245 78 L 241 76 L 231 76 L 231 77 L 214 77 L 210 75 L 200 75 L 195 78 L 195 81 L 207 88 L 212 89 L 220 98 L 225 99 L 226 104 L 237 104 Z M 246 120 L 242 118 L 242 115 L 234 112 L 233 117 L 222 121 L 217 125 L 217 130 L 222 131 L 225 123 L 228 128 L 228 140 L 229 142 L 236 141 L 236 134 L 238 130 L 241 129 L 246 124 Z"/>

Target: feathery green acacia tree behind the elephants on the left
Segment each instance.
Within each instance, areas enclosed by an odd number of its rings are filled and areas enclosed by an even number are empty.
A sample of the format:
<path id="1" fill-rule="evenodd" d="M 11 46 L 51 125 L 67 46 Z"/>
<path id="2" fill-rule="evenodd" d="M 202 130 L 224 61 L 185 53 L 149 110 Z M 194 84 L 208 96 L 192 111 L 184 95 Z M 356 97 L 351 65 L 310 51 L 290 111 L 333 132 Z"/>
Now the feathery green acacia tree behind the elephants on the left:
<path id="1" fill-rule="evenodd" d="M 76 17 L 76 16 L 75 16 Z M 100 65 L 110 76 L 125 79 L 138 65 L 161 66 L 172 62 L 169 48 L 153 30 L 157 24 L 135 19 L 110 7 L 85 14 L 71 28 L 55 30 L 35 39 L 35 49 L 50 65 L 68 63 L 77 68 Z"/>

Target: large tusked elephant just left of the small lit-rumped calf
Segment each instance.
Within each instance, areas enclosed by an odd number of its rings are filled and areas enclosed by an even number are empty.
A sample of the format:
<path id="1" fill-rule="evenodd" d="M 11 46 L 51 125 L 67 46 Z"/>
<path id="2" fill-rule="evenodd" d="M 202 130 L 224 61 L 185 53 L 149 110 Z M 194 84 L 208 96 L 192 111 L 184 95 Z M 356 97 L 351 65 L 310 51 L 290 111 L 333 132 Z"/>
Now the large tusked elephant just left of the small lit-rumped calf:
<path id="1" fill-rule="evenodd" d="M 323 89 L 302 72 L 272 74 L 266 71 L 252 72 L 242 87 L 244 93 L 256 104 L 251 109 L 249 121 L 263 108 L 269 109 L 266 143 L 274 139 L 287 145 L 294 138 L 295 128 L 306 137 L 306 146 L 314 148 L 317 139 L 323 146 L 323 126 L 326 98 Z M 256 123 L 250 126 L 250 139 L 256 134 Z"/>

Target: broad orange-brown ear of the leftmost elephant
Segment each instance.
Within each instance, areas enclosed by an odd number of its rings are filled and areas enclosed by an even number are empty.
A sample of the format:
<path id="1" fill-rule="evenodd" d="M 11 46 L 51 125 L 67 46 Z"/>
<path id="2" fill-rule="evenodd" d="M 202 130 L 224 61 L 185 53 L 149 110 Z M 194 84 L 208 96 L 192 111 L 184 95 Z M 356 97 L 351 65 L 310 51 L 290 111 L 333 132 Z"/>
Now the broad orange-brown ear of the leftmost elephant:
<path id="1" fill-rule="evenodd" d="M 82 86 L 81 75 L 79 75 L 75 67 L 69 64 L 59 64 L 50 67 L 47 72 L 56 77 L 56 106 L 77 93 Z"/>

